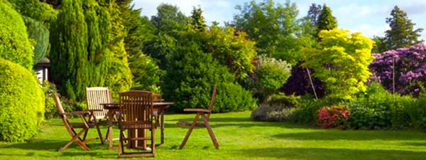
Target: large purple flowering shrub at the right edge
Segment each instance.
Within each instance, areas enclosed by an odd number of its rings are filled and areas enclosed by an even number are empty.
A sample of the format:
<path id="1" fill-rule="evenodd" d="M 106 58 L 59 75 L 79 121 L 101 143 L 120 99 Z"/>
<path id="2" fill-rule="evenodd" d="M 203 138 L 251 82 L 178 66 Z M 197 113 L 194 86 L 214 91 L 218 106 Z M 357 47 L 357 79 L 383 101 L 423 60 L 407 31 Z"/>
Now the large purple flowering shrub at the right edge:
<path id="1" fill-rule="evenodd" d="M 372 53 L 376 59 L 370 65 L 371 77 L 386 90 L 393 90 L 392 72 L 395 59 L 395 92 L 402 95 L 417 95 L 419 83 L 426 82 L 426 46 L 420 43 L 409 48 L 398 48 L 383 53 Z"/>

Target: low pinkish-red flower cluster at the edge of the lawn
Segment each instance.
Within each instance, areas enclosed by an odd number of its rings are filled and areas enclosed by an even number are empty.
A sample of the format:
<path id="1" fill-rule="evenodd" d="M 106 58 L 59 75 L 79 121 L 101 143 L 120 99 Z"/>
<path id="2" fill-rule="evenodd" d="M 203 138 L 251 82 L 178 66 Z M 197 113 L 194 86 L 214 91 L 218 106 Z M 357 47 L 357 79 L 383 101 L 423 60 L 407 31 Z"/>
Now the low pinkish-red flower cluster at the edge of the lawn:
<path id="1" fill-rule="evenodd" d="M 349 111 L 349 107 L 347 106 L 332 105 L 330 107 L 321 107 L 321 109 L 318 110 L 317 124 L 324 128 L 342 128 L 344 122 L 349 119 L 350 114 L 351 111 Z"/>

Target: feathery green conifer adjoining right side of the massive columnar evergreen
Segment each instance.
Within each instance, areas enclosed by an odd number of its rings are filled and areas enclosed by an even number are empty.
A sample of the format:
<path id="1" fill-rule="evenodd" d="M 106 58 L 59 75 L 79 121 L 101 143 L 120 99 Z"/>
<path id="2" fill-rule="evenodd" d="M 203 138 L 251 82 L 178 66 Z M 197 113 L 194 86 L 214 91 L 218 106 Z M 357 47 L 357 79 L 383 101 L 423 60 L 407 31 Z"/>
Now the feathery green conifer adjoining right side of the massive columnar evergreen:
<path id="1" fill-rule="evenodd" d="M 151 41 L 155 26 L 148 17 L 141 16 L 141 9 L 134 9 L 132 0 L 119 0 L 120 17 L 123 18 L 126 37 L 124 44 L 129 56 L 129 67 L 133 75 L 132 90 L 150 90 L 159 92 L 157 87 L 160 75 L 155 60 L 142 52 L 143 43 Z"/>

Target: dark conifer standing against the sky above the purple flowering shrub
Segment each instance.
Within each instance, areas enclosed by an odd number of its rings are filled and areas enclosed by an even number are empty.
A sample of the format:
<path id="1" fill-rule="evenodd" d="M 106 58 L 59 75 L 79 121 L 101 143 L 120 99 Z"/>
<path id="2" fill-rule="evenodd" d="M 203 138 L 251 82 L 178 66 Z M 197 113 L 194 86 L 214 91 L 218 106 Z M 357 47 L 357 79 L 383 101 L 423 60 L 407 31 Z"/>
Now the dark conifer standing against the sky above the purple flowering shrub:
<path id="1" fill-rule="evenodd" d="M 393 7 L 391 17 L 386 18 L 386 23 L 391 27 L 390 30 L 385 31 L 386 50 L 413 46 L 423 42 L 423 40 L 418 40 L 423 28 L 414 30 L 415 23 L 411 22 L 407 13 L 398 6 Z"/>

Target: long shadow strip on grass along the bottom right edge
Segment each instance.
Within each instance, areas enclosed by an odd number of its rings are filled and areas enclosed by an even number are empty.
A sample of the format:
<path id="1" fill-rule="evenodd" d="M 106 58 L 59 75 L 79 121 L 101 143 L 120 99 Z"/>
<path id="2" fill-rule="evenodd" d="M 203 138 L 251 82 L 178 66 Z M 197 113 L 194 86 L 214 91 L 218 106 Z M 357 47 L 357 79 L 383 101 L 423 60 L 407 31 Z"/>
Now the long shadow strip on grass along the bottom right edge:
<path id="1" fill-rule="evenodd" d="M 249 159 L 425 159 L 425 151 L 383 149 L 326 149 L 326 148 L 266 148 L 237 150 Z"/>

